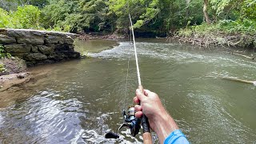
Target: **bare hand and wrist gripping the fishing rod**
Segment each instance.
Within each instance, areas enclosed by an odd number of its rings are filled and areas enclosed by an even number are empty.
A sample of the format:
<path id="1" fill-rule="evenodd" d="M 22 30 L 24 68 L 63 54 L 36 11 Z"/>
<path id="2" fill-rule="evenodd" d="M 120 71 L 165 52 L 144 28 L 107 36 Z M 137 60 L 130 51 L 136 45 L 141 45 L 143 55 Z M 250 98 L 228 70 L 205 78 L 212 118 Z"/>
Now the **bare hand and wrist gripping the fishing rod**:
<path id="1" fill-rule="evenodd" d="M 170 117 L 170 114 L 162 106 L 162 102 L 158 97 L 158 94 L 151 92 L 150 90 L 136 90 L 136 97 L 134 102 L 141 104 L 136 105 L 135 113 L 136 118 L 141 118 L 142 114 L 145 114 L 149 119 L 150 128 L 158 134 L 158 138 L 161 143 L 165 138 L 174 130 L 178 130 L 178 126 L 174 122 L 174 119 Z"/>

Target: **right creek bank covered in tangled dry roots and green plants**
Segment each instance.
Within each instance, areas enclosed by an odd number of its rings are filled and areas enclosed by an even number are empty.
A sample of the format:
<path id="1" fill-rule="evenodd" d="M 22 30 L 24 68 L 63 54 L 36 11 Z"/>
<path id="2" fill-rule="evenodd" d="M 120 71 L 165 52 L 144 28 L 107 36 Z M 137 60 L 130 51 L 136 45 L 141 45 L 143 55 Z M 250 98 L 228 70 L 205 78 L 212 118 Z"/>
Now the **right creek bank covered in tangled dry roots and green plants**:
<path id="1" fill-rule="evenodd" d="M 222 24 L 188 26 L 178 30 L 169 39 L 200 47 L 222 46 L 256 50 L 256 32 L 253 26 L 229 27 Z"/>

